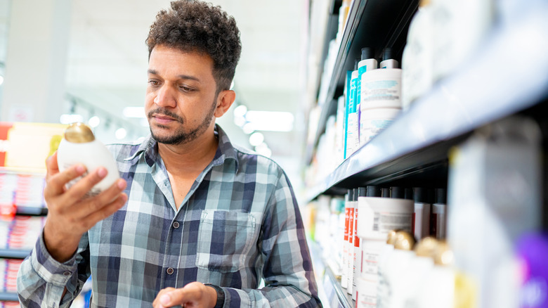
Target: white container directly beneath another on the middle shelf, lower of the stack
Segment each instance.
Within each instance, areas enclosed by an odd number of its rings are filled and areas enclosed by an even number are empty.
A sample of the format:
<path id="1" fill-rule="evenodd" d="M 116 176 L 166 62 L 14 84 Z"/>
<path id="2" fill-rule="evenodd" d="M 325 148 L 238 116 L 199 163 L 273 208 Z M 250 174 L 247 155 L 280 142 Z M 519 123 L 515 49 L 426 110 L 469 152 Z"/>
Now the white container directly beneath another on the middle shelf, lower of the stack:
<path id="1" fill-rule="evenodd" d="M 400 114 L 397 108 L 362 110 L 360 115 L 360 144 L 365 144 L 384 131 Z"/>

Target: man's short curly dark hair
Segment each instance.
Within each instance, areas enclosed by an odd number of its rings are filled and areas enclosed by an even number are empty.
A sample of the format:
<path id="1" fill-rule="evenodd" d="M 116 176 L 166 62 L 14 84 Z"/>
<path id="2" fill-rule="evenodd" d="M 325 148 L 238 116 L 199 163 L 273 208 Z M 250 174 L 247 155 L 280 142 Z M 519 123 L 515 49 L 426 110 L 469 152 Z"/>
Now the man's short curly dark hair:
<path id="1" fill-rule="evenodd" d="M 146 39 L 148 56 L 156 45 L 206 53 L 213 60 L 217 93 L 230 89 L 242 43 L 232 16 L 220 6 L 197 0 L 171 2 L 171 10 L 156 15 Z"/>

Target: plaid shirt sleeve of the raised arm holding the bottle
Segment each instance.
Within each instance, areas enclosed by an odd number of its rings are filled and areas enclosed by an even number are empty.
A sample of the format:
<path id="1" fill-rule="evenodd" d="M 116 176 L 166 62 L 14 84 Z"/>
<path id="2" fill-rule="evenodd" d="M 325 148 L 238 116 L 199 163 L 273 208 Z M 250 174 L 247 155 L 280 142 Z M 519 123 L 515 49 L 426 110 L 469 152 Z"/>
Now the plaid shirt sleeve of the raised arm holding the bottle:
<path id="1" fill-rule="evenodd" d="M 90 275 L 88 264 L 87 233 L 82 236 L 74 256 L 64 263 L 51 257 L 44 244 L 44 233 L 41 233 L 17 275 L 21 307 L 70 307 Z"/>

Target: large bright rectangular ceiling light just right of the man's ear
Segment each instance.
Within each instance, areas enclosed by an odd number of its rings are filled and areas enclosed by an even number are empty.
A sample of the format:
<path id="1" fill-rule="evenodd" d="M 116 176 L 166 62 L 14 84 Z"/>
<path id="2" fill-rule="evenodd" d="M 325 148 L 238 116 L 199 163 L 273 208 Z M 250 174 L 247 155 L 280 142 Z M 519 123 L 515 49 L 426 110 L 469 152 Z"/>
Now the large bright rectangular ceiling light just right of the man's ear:
<path id="1" fill-rule="evenodd" d="M 280 111 L 253 111 L 245 114 L 245 120 L 252 123 L 256 131 L 292 131 L 294 116 Z"/>

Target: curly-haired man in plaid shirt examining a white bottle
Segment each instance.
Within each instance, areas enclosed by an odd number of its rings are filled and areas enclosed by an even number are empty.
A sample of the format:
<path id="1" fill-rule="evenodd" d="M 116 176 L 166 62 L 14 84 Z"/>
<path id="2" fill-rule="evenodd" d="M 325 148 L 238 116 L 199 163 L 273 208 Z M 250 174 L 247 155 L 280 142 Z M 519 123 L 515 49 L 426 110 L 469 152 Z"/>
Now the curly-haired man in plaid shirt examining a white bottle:
<path id="1" fill-rule="evenodd" d="M 110 146 L 122 179 L 84 200 L 106 170 L 65 189 L 85 168 L 59 172 L 48 159 L 48 219 L 21 265 L 20 302 L 69 307 L 91 274 L 92 307 L 319 306 L 287 176 L 234 148 L 214 121 L 235 100 L 235 20 L 175 1 L 147 44 L 151 136 Z"/>

